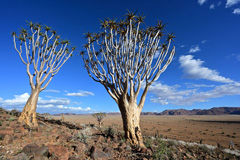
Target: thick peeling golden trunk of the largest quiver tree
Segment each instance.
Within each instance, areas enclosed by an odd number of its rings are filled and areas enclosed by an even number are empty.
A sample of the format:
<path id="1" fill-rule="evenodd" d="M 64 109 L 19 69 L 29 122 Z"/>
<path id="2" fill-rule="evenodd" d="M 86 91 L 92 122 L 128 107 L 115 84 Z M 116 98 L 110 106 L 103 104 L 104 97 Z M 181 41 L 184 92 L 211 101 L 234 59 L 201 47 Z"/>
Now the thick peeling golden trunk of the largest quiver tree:
<path id="1" fill-rule="evenodd" d="M 122 115 L 126 140 L 133 145 L 137 144 L 145 147 L 140 129 L 140 115 L 142 110 L 138 108 L 136 103 L 122 103 L 119 105 L 119 109 Z"/>

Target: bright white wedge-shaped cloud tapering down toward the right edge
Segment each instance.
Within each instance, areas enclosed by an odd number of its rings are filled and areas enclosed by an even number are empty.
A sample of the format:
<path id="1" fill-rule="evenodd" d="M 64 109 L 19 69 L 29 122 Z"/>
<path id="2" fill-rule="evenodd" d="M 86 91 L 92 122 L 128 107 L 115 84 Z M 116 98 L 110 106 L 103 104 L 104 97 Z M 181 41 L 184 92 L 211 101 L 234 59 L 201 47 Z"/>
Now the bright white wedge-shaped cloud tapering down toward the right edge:
<path id="1" fill-rule="evenodd" d="M 206 79 L 215 82 L 232 83 L 233 80 L 219 76 L 215 70 L 203 67 L 204 61 L 194 59 L 192 55 L 182 55 L 179 58 L 180 68 L 183 69 L 184 75 L 191 79 Z"/>

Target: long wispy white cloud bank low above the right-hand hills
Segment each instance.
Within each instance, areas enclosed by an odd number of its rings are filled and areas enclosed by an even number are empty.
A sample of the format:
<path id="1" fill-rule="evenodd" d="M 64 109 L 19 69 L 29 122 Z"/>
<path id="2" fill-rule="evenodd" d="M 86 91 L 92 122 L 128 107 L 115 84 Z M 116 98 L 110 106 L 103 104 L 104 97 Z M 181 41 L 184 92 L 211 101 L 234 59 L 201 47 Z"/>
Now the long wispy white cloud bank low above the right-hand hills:
<path id="1" fill-rule="evenodd" d="M 206 102 L 212 98 L 227 95 L 240 95 L 240 83 L 224 84 L 214 87 L 212 90 L 200 92 L 198 89 L 180 90 L 180 87 L 153 83 L 149 88 L 152 93 L 151 102 L 161 105 L 192 105 L 193 103 Z"/>

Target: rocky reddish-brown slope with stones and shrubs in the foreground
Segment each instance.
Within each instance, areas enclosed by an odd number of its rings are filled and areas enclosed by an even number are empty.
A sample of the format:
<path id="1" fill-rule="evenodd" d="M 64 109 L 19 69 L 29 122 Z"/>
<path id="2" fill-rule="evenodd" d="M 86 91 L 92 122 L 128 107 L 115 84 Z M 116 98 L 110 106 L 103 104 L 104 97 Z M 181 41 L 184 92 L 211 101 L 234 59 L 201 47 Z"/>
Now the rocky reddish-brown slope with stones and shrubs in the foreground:
<path id="1" fill-rule="evenodd" d="M 19 113 L 0 108 L 0 160 L 80 159 L 240 159 L 234 146 L 188 145 L 172 140 L 144 137 L 147 148 L 132 146 L 123 133 L 93 124 L 74 124 L 38 117 L 38 129 L 17 122 Z"/>

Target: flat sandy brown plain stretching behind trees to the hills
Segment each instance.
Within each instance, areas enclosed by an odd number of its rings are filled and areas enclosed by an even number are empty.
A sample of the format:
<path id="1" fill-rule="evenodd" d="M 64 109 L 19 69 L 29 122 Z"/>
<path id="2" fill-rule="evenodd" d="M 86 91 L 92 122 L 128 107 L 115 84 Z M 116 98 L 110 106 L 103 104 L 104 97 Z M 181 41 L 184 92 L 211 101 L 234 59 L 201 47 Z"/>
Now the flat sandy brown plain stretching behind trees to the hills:
<path id="1" fill-rule="evenodd" d="M 54 119 L 61 117 L 52 116 Z M 64 119 L 79 124 L 98 124 L 92 115 L 64 115 Z M 123 131 L 121 116 L 107 115 L 103 121 L 103 128 L 108 126 Z M 203 144 L 214 146 L 219 144 L 224 148 L 228 148 L 229 142 L 232 141 L 235 148 L 240 149 L 240 115 L 142 115 L 140 126 L 145 136 L 158 134 L 164 138 L 187 142 L 202 141 Z"/>

